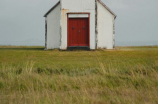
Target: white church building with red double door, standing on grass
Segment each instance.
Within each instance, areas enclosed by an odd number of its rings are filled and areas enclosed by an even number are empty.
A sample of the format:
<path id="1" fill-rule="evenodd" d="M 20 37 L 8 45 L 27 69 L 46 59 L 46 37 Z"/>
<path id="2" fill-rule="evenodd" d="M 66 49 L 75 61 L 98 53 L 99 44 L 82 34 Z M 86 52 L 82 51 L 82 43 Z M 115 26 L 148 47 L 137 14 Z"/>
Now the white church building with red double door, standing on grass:
<path id="1" fill-rule="evenodd" d="M 113 49 L 115 19 L 101 0 L 60 0 L 45 15 L 45 49 Z"/>

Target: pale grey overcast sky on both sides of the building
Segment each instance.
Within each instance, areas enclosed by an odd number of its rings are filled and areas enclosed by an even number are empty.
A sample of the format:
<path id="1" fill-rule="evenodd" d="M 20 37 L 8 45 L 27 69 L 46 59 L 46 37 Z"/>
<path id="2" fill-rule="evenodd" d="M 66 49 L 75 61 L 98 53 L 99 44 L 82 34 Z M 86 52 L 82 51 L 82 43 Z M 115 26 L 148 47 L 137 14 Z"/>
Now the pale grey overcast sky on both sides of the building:
<path id="1" fill-rule="evenodd" d="M 158 45 L 158 0 L 102 0 L 117 15 L 116 46 Z M 44 14 L 58 0 L 0 0 L 0 45 L 45 43 Z"/>

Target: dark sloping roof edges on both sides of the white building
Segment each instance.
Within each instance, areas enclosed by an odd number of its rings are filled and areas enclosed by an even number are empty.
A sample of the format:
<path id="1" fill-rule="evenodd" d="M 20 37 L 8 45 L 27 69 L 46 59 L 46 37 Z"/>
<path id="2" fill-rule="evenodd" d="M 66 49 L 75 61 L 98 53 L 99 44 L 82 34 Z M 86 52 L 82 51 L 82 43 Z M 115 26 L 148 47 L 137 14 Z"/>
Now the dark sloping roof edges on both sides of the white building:
<path id="1" fill-rule="evenodd" d="M 116 14 L 110 10 L 110 8 L 108 8 L 101 0 L 97 0 L 99 3 L 101 3 L 112 15 L 114 15 L 114 17 L 116 18 Z M 58 1 L 45 15 L 44 17 L 46 17 L 56 6 L 58 6 L 60 4 L 60 1 Z"/>

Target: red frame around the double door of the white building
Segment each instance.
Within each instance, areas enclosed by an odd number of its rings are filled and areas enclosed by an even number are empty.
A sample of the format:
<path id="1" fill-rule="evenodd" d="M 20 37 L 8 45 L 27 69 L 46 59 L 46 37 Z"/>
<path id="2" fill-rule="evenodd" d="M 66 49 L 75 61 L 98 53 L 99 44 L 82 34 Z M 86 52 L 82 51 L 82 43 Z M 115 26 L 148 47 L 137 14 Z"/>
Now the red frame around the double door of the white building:
<path id="1" fill-rule="evenodd" d="M 68 12 L 67 13 L 67 47 L 71 47 L 70 42 L 69 42 L 69 14 L 88 14 L 88 47 L 90 48 L 90 13 L 89 12 Z M 84 17 L 78 17 L 78 18 L 84 18 Z"/>

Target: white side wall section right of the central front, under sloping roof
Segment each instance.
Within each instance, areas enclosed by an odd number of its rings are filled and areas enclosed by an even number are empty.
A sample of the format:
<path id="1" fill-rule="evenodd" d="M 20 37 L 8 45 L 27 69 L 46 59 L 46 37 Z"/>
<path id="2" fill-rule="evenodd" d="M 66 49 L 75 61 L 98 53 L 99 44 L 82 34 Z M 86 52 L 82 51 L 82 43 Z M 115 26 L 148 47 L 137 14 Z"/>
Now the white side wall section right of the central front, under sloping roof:
<path id="1" fill-rule="evenodd" d="M 100 2 L 97 2 L 97 14 L 97 48 L 113 49 L 114 16 L 102 4 L 100 4 Z"/>

